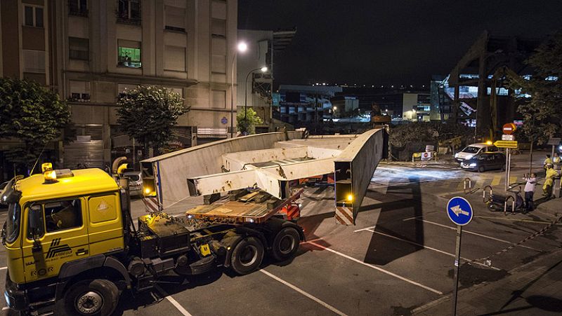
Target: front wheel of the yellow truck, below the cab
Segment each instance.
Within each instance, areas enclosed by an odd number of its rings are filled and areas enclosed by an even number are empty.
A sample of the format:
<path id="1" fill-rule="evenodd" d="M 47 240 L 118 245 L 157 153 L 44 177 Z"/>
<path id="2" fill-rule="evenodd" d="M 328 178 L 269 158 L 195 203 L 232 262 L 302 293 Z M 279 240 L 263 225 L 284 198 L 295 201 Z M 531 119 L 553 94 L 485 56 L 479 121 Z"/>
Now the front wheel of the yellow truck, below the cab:
<path id="1" fill-rule="evenodd" d="M 119 301 L 119 289 L 110 280 L 84 280 L 65 294 L 67 315 L 111 315 Z"/>

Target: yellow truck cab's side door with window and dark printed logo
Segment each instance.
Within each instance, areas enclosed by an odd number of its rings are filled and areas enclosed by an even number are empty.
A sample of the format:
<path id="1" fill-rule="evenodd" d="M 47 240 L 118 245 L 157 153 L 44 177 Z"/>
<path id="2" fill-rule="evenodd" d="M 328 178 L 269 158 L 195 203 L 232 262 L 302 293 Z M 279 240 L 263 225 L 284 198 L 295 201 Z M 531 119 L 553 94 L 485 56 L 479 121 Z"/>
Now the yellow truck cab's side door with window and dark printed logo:
<path id="1" fill-rule="evenodd" d="M 63 263 L 89 256 L 83 198 L 32 202 L 26 205 L 25 214 L 30 209 L 41 212 L 42 223 L 35 232 L 35 240 L 29 217 L 25 223 L 22 252 L 26 282 L 54 277 Z"/>

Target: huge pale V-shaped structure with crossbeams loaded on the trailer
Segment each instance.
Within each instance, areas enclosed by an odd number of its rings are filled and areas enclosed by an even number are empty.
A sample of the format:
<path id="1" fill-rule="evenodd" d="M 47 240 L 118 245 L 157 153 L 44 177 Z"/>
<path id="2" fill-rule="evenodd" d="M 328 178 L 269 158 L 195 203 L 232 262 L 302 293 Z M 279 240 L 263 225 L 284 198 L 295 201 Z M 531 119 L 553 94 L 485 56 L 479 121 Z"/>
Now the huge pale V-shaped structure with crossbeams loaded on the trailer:
<path id="1" fill-rule="evenodd" d="M 302 131 L 237 137 L 143 160 L 143 181 L 154 184 L 162 209 L 192 195 L 258 187 L 289 197 L 289 182 L 334 174 L 335 218 L 351 225 L 379 161 L 386 158 L 384 130 L 361 135 L 305 136 Z"/>

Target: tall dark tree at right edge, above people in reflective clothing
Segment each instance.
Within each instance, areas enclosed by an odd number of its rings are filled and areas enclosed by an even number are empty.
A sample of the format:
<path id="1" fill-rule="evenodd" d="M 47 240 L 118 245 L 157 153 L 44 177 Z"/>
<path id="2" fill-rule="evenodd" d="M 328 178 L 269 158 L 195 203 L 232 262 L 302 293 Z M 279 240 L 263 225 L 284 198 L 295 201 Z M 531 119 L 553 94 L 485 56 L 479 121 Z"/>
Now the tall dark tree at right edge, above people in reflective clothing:
<path id="1" fill-rule="evenodd" d="M 535 71 L 530 80 L 508 78 L 509 87 L 518 92 L 514 97 L 521 101 L 517 109 L 523 116 L 521 132 L 530 139 L 529 172 L 532 172 L 533 142 L 544 144 L 562 128 L 561 56 L 562 32 L 558 32 L 525 61 Z"/>

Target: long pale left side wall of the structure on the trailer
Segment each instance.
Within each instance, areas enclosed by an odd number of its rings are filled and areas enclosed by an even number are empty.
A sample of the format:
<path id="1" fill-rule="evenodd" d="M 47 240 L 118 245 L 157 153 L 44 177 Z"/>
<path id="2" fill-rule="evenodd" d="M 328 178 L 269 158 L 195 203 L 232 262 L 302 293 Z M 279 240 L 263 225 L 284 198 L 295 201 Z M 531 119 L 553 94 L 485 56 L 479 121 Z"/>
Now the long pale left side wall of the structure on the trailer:
<path id="1" fill-rule="evenodd" d="M 302 137 L 302 132 L 275 132 L 225 139 L 143 160 L 158 174 L 157 195 L 166 208 L 189 196 L 188 178 L 221 172 L 225 153 L 268 149 L 273 143 Z"/>

